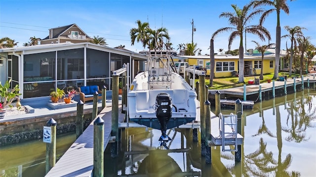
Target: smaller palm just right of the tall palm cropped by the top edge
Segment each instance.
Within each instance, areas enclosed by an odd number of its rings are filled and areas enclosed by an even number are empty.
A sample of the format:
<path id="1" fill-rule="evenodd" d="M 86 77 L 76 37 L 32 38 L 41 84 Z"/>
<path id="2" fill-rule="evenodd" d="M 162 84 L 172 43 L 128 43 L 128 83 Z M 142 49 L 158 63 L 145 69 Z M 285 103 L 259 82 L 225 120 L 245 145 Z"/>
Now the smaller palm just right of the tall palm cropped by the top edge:
<path id="1" fill-rule="evenodd" d="M 289 63 L 289 76 L 292 75 L 292 64 L 293 64 L 293 47 L 296 47 L 297 44 L 296 44 L 296 41 L 297 41 L 297 38 L 299 37 L 303 37 L 303 32 L 302 32 L 302 29 L 305 29 L 305 28 L 301 28 L 299 26 L 296 26 L 294 28 L 290 28 L 289 26 L 285 26 L 284 29 L 286 29 L 289 34 L 286 34 L 286 35 L 283 35 L 281 38 L 285 38 L 285 37 L 288 37 L 290 38 L 291 40 L 291 47 L 290 47 L 290 63 Z M 286 46 L 287 48 L 287 46 Z"/>

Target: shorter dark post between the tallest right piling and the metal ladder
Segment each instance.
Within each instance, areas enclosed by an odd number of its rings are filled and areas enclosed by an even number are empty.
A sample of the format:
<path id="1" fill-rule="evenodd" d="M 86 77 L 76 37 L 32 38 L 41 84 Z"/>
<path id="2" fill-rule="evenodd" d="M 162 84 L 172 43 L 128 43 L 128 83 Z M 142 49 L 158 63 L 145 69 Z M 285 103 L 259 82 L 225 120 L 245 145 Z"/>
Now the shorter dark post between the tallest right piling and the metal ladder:
<path id="1" fill-rule="evenodd" d="M 212 153 L 211 153 L 211 147 L 208 144 L 208 141 L 211 140 L 211 103 L 206 100 L 204 102 L 204 109 L 205 109 L 205 162 L 206 163 L 212 163 Z"/>

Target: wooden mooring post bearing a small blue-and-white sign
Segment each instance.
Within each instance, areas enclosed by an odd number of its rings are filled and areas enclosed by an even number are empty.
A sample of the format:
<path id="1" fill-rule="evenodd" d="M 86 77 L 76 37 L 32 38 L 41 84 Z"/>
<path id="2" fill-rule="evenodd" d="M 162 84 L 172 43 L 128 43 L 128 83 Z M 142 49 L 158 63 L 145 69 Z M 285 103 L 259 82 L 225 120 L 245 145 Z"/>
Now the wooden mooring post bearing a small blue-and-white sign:
<path id="1" fill-rule="evenodd" d="M 46 142 L 46 174 L 56 164 L 56 125 L 57 125 L 57 122 L 53 118 L 50 118 L 46 122 L 46 127 L 44 127 L 44 130 L 43 130 L 44 131 L 43 138 L 47 136 L 47 140 L 48 140 Z"/>

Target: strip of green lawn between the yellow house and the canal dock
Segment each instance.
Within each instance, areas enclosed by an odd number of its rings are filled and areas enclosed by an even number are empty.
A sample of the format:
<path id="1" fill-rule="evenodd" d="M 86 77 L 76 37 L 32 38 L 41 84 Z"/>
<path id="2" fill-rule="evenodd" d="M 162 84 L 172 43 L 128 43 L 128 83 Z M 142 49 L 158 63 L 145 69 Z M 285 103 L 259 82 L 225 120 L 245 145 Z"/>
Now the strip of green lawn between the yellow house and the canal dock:
<path id="1" fill-rule="evenodd" d="M 249 76 L 249 77 L 244 77 L 244 82 L 245 84 L 248 85 L 248 81 L 249 80 L 254 80 L 259 79 L 260 75 L 257 76 Z M 279 73 L 279 76 L 287 76 L 288 77 L 288 73 L 287 72 L 282 72 Z M 298 76 L 297 74 L 293 76 Z M 260 83 L 267 83 L 268 79 L 272 79 L 273 78 L 273 73 L 270 74 L 265 74 L 263 75 L 263 80 L 260 81 Z M 196 82 L 198 82 L 198 79 L 196 80 Z M 205 84 L 209 85 L 209 79 L 205 79 Z M 215 78 L 213 79 L 213 87 L 209 87 L 208 89 L 229 89 L 229 88 L 235 88 L 235 87 L 240 87 L 243 86 L 244 83 L 238 83 L 238 77 L 227 77 L 227 78 Z"/>

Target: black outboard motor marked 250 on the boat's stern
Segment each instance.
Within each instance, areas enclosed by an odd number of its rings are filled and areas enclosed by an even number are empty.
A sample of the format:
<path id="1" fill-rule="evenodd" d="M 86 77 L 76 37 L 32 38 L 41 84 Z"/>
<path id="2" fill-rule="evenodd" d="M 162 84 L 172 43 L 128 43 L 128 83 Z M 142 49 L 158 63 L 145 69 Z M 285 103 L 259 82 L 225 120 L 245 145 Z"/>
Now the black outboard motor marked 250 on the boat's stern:
<path id="1" fill-rule="evenodd" d="M 158 93 L 156 97 L 156 117 L 160 123 L 161 136 L 159 141 L 166 147 L 166 142 L 171 140 L 167 135 L 167 123 L 172 116 L 172 101 L 168 93 Z"/>

